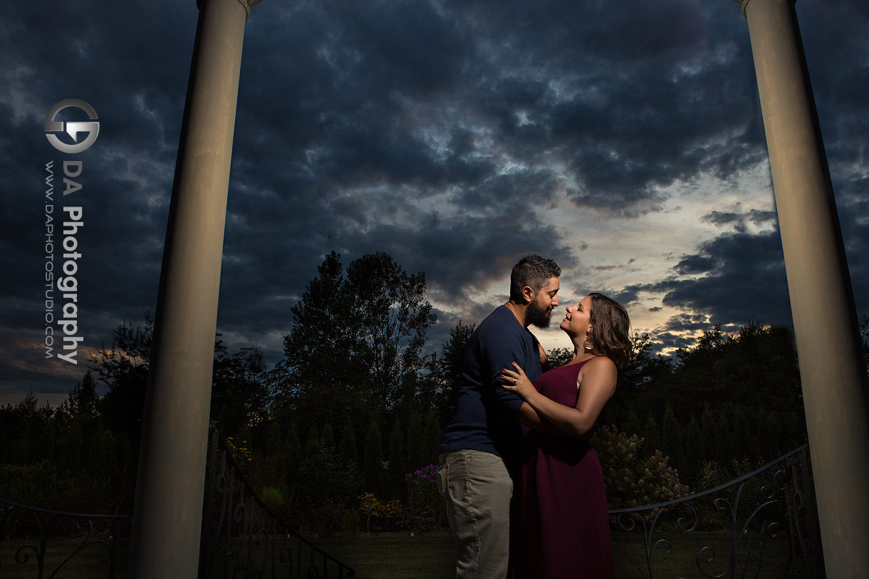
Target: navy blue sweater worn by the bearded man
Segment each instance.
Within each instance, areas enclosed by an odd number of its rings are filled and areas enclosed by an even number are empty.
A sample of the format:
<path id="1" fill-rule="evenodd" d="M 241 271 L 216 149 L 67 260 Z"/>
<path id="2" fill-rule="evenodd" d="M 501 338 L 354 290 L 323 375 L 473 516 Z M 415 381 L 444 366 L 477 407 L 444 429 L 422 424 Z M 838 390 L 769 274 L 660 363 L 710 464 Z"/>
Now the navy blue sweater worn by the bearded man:
<path id="1" fill-rule="evenodd" d="M 501 369 L 518 363 L 531 382 L 541 375 L 534 336 L 506 306 L 483 320 L 468 340 L 453 422 L 443 430 L 438 453 L 475 449 L 518 466 L 522 428 L 516 422 L 521 398 L 501 388 Z"/>

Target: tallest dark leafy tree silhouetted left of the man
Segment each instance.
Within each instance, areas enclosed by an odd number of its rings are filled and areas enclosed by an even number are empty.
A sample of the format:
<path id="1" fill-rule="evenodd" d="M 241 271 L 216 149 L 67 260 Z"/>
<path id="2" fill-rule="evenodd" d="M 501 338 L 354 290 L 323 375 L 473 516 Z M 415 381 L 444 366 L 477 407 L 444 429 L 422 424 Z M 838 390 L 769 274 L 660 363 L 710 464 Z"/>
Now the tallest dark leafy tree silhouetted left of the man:
<path id="1" fill-rule="evenodd" d="M 425 275 L 409 275 L 384 253 L 356 259 L 345 275 L 334 251 L 317 272 L 291 309 L 277 409 L 360 429 L 375 411 L 408 416 L 426 383 L 422 347 L 435 321 Z"/>

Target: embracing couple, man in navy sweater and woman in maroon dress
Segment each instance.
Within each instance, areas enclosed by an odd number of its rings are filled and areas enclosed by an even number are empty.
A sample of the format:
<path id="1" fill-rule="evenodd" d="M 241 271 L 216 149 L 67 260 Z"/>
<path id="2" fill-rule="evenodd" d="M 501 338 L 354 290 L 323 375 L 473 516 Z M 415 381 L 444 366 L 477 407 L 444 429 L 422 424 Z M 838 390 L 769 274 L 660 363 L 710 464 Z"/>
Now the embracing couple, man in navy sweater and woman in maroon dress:
<path id="1" fill-rule="evenodd" d="M 459 579 L 613 576 L 607 496 L 588 438 L 630 355 L 629 321 L 598 293 L 568 305 L 561 329 L 573 359 L 544 372 L 546 353 L 527 327 L 548 327 L 559 276 L 551 259 L 522 258 L 509 301 L 465 348 L 456 413 L 438 447 Z"/>

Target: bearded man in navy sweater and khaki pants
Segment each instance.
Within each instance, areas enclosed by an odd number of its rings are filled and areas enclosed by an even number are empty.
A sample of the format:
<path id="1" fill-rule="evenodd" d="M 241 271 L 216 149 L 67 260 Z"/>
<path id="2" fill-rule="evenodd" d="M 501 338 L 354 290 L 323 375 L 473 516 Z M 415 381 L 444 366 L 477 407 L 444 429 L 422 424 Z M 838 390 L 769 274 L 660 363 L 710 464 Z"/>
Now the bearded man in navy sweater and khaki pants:
<path id="1" fill-rule="evenodd" d="M 501 370 L 518 363 L 532 382 L 542 348 L 527 327 L 547 328 L 558 306 L 561 268 L 526 256 L 510 274 L 510 299 L 468 340 L 453 422 L 438 446 L 438 489 L 455 536 L 459 579 L 503 579 L 510 543 L 510 498 L 518 473 L 521 425 L 540 426 L 534 409 L 501 388 Z"/>

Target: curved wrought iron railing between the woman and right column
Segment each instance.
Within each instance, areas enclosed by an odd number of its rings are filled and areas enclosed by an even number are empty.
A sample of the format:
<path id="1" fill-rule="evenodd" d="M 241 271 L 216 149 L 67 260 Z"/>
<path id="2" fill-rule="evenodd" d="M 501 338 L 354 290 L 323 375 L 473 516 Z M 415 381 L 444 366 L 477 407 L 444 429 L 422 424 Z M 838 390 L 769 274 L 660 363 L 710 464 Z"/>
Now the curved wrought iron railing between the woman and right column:
<path id="1" fill-rule="evenodd" d="M 776 571 L 776 576 L 823 577 L 811 476 L 808 446 L 803 445 L 713 489 L 669 502 L 610 509 L 616 529 L 615 550 L 627 557 L 637 576 L 653 579 L 655 563 L 673 552 L 673 536 L 682 533 L 696 536 L 704 528 L 717 528 L 717 532 L 704 535 L 701 541 L 725 536 L 725 548 L 720 550 L 726 556 L 719 557 L 712 544 L 699 549 L 695 546 L 695 569 L 686 569 L 684 572 L 690 574 L 686 576 L 758 577 L 766 550 L 774 539 L 786 541 L 784 569 Z M 699 511 L 706 516 L 700 516 Z M 726 532 L 722 534 L 722 530 Z M 627 552 L 620 542 L 620 531 L 642 532 L 644 561 L 637 561 Z M 670 538 L 656 538 L 661 535 Z"/>

